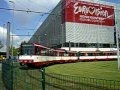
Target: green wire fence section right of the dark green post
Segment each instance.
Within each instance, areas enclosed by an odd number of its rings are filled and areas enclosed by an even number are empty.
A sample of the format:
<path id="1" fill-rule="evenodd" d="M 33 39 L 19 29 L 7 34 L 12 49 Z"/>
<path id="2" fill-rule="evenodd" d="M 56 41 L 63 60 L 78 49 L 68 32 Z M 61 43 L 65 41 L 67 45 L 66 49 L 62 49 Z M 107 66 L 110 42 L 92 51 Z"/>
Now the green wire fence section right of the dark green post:
<path id="1" fill-rule="evenodd" d="M 46 83 L 62 90 L 120 90 L 120 81 L 46 74 Z"/>

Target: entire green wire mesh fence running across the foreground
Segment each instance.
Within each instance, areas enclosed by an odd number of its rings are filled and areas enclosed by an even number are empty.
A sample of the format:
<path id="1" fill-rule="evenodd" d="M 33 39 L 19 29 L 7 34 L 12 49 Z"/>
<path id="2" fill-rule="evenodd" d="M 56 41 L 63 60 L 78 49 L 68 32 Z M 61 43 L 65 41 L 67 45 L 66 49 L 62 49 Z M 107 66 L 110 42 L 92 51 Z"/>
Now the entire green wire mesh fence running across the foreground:
<path id="1" fill-rule="evenodd" d="M 24 68 L 11 61 L 2 64 L 6 90 L 120 90 L 120 81 L 45 73 L 44 68 Z"/>

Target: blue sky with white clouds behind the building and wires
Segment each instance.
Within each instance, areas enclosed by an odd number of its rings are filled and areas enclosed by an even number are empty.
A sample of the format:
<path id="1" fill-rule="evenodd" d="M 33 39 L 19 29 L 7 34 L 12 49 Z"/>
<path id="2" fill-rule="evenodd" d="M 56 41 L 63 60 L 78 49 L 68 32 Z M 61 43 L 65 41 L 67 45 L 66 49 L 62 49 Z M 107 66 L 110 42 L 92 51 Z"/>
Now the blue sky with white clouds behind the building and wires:
<path id="1" fill-rule="evenodd" d="M 12 44 L 17 47 L 22 41 L 28 41 L 30 39 L 48 16 L 48 14 L 45 13 L 50 13 L 59 1 L 60 0 L 0 0 L 0 41 L 2 41 L 4 46 L 0 51 L 5 51 L 6 49 L 7 22 L 11 23 L 10 34 L 13 35 Z M 120 3 L 120 0 L 102 1 Z M 1 8 L 14 10 L 4 10 Z M 15 10 L 25 10 L 26 12 L 18 12 Z"/>

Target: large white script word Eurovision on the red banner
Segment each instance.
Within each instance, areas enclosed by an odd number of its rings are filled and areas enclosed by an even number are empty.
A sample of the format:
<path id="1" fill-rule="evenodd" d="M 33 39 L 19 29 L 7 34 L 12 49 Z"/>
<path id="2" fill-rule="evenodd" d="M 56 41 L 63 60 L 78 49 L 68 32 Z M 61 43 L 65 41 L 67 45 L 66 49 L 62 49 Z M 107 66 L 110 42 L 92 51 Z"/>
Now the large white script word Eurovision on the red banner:
<path id="1" fill-rule="evenodd" d="M 105 18 L 109 18 L 109 14 L 107 10 L 103 10 L 102 7 L 100 8 L 96 8 L 94 6 L 79 6 L 79 3 L 76 2 L 74 4 L 74 14 L 78 14 L 78 13 L 82 13 L 84 15 L 90 14 L 90 15 L 94 15 L 94 16 L 99 16 L 99 17 L 105 17 Z"/>

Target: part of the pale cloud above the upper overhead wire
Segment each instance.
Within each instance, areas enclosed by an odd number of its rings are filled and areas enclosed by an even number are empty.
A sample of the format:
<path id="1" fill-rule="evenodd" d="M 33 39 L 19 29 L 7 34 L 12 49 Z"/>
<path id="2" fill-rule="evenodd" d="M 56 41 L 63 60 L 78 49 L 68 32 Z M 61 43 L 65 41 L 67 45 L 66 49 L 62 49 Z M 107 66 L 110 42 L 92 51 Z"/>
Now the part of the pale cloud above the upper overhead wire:
<path id="1" fill-rule="evenodd" d="M 24 10 L 33 10 L 33 11 L 49 11 L 52 9 L 60 0 L 10 0 L 12 3 L 10 3 L 8 0 L 6 2 L 8 5 L 15 9 L 24 9 Z M 49 3 L 49 4 L 48 4 Z"/>

